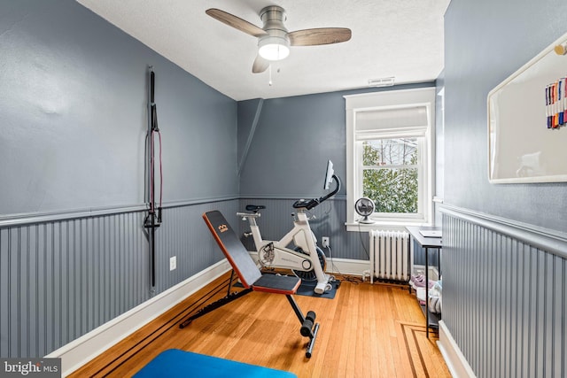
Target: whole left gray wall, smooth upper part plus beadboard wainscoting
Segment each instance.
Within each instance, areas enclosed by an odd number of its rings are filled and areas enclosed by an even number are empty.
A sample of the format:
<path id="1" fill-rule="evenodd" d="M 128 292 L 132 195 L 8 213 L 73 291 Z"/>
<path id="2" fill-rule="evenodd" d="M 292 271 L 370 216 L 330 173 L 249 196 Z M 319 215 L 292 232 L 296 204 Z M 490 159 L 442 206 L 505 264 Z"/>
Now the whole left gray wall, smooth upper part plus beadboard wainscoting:
<path id="1" fill-rule="evenodd" d="M 154 289 L 148 66 L 165 206 Z M 236 101 L 73 0 L 0 1 L 0 98 L 1 357 L 43 356 L 221 260 L 200 214 L 237 212 Z"/>

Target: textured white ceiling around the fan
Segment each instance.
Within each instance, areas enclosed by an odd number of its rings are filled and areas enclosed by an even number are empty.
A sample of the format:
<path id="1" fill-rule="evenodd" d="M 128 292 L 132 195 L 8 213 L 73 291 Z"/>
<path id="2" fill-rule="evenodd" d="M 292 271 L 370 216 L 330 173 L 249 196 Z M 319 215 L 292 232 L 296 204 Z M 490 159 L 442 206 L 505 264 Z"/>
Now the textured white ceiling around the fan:
<path id="1" fill-rule="evenodd" d="M 209 86 L 235 100 L 274 98 L 435 80 L 443 69 L 450 0 L 77 0 Z M 267 5 L 285 9 L 289 31 L 349 27 L 348 42 L 291 47 L 269 72 L 252 73 L 257 39 L 206 15 L 219 8 L 262 26 Z"/>

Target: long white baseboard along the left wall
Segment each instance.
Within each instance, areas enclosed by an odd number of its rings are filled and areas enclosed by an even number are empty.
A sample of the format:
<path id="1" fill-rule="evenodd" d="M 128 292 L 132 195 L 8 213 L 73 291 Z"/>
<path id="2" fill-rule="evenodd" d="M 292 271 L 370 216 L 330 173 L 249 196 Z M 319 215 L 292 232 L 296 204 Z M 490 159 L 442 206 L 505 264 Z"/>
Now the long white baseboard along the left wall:
<path id="1" fill-rule="evenodd" d="M 229 262 L 223 259 L 45 357 L 60 358 L 62 376 L 71 374 L 229 270 Z"/>

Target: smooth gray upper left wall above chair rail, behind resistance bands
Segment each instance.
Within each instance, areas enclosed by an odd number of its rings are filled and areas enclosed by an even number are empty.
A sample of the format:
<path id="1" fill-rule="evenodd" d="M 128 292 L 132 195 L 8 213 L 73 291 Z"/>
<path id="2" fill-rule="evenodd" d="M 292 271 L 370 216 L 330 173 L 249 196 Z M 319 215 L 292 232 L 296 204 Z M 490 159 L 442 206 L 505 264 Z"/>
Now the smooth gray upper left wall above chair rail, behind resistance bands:
<path id="1" fill-rule="evenodd" d="M 237 195 L 235 101 L 72 0 L 0 6 L 0 214 L 144 203 L 148 66 L 164 201 Z"/>

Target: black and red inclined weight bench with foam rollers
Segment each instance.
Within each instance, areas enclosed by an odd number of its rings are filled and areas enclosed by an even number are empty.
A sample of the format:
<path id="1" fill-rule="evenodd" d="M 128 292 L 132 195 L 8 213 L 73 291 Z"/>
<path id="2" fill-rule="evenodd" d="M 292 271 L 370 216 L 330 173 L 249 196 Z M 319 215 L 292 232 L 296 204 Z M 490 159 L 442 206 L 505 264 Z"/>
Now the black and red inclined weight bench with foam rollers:
<path id="1" fill-rule="evenodd" d="M 189 325 L 192 320 L 195 320 L 208 312 L 212 312 L 213 310 L 221 307 L 222 305 L 226 305 L 239 297 L 244 297 L 252 291 L 283 294 L 287 297 L 291 308 L 293 308 L 293 311 L 299 319 L 299 323 L 301 323 L 301 336 L 309 337 L 309 343 L 307 343 L 307 351 L 305 355 L 307 358 L 310 358 L 315 344 L 315 337 L 319 330 L 319 323 L 315 323 L 315 312 L 313 311 L 307 312 L 307 315 L 304 316 L 303 312 L 299 309 L 299 305 L 293 298 L 293 294 L 295 294 L 299 288 L 301 280 L 298 277 L 286 275 L 262 274 L 248 251 L 246 251 L 245 246 L 238 239 L 235 231 L 230 227 L 229 222 L 224 219 L 221 212 L 216 210 L 206 212 L 203 214 L 203 219 L 213 234 L 216 243 L 219 244 L 222 253 L 224 253 L 226 258 L 229 260 L 230 266 L 232 266 L 233 269 L 233 274 L 236 272 L 245 289 L 236 293 L 229 293 L 226 297 L 222 297 L 213 304 L 207 305 L 194 315 L 190 316 L 187 320 L 184 320 L 179 327 L 184 328 Z M 230 277 L 230 281 L 232 281 L 232 276 Z"/>

